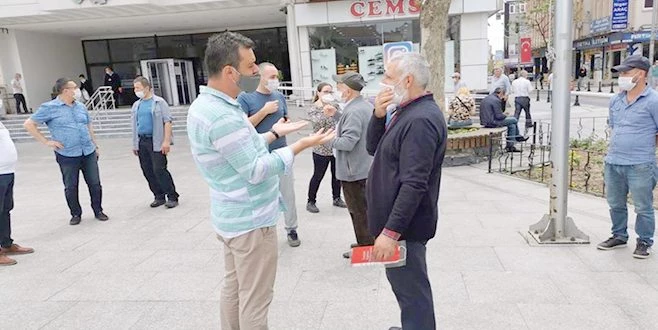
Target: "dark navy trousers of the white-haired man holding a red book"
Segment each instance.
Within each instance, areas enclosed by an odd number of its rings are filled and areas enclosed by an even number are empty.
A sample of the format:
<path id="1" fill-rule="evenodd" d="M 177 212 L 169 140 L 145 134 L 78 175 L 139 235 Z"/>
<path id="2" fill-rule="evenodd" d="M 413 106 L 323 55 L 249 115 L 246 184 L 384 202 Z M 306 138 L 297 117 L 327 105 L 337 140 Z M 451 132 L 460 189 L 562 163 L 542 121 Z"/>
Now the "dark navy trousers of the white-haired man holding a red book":
<path id="1" fill-rule="evenodd" d="M 427 277 L 425 242 L 407 241 L 406 265 L 386 268 L 386 278 L 391 283 L 395 298 L 400 305 L 402 329 L 433 330 L 434 302 L 432 287 Z"/>

